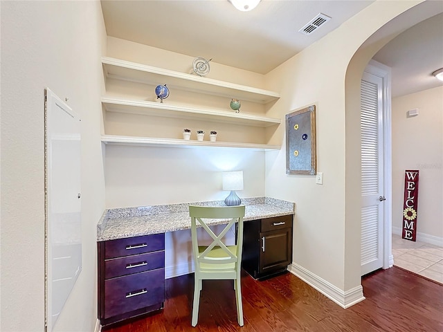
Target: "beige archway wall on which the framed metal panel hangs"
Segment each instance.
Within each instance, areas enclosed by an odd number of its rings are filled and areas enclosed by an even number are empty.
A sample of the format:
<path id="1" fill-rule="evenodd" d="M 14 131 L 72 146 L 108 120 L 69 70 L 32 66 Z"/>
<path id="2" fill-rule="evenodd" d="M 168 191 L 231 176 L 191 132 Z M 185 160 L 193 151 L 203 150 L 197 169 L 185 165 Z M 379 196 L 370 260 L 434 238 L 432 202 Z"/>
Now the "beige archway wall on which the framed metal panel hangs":
<path id="1" fill-rule="evenodd" d="M 316 104 L 317 171 L 324 179 L 316 185 L 315 176 L 285 174 L 283 148 L 266 154 L 266 195 L 297 204 L 294 264 L 341 291 L 358 287 L 361 279 L 359 86 L 376 50 L 359 48 L 416 3 L 376 1 L 268 75 L 282 95 L 274 116 L 284 119 Z M 280 142 L 284 147 L 284 138 Z"/>

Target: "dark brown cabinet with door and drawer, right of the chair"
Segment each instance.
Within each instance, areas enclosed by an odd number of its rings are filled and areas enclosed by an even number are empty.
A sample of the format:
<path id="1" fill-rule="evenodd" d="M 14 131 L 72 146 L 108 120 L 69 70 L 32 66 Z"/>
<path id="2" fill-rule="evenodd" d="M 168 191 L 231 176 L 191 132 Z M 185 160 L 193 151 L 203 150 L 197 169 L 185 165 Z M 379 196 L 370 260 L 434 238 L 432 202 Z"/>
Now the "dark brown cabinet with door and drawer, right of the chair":
<path id="1" fill-rule="evenodd" d="M 254 279 L 287 270 L 292 262 L 293 215 L 244 223 L 242 266 Z"/>

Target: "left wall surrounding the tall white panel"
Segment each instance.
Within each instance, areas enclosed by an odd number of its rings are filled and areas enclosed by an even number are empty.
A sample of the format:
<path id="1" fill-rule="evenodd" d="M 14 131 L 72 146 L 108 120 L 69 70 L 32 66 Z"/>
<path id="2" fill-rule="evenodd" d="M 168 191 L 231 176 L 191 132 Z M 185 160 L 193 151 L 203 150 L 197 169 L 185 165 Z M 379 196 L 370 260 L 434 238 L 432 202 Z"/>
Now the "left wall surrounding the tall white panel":
<path id="1" fill-rule="evenodd" d="M 105 208 L 98 1 L 1 1 L 1 331 L 44 331 L 44 88 L 82 118 L 82 272 L 54 331 L 97 321 Z"/>

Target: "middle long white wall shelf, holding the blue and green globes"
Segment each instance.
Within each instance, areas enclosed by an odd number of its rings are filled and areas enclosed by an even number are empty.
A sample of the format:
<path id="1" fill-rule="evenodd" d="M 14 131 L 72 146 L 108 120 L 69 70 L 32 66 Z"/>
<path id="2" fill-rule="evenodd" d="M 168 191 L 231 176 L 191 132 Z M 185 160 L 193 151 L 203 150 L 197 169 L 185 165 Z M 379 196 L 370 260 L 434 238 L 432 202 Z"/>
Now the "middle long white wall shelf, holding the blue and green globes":
<path id="1" fill-rule="evenodd" d="M 253 114 L 219 111 L 217 109 L 200 109 L 191 106 L 147 102 L 143 100 L 123 100 L 118 98 L 102 98 L 102 105 L 108 112 L 142 114 L 172 118 L 192 118 L 197 120 L 231 122 L 253 127 L 270 127 L 280 124 L 277 118 L 266 118 Z"/>

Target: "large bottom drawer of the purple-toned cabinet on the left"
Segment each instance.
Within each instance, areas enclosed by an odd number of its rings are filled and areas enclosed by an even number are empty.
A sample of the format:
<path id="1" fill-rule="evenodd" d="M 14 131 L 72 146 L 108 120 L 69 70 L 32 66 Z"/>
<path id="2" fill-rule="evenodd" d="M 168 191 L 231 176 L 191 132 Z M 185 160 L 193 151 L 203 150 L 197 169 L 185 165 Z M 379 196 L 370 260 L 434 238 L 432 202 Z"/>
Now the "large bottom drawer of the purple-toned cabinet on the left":
<path id="1" fill-rule="evenodd" d="M 121 315 L 165 301 L 165 269 L 105 281 L 105 317 Z"/>

